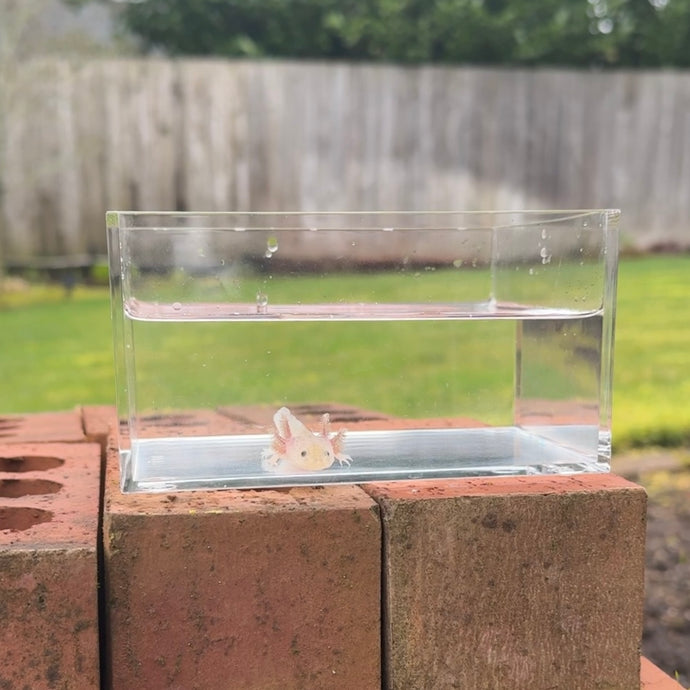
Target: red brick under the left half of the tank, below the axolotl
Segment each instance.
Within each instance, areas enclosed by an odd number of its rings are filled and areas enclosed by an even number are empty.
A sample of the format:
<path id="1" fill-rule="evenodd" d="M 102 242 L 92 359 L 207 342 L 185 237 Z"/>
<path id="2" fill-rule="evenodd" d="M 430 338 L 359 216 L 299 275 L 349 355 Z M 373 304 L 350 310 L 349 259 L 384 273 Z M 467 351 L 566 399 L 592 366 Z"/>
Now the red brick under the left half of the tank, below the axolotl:
<path id="1" fill-rule="evenodd" d="M 380 520 L 359 488 L 128 494 L 107 457 L 109 686 L 380 688 Z"/>

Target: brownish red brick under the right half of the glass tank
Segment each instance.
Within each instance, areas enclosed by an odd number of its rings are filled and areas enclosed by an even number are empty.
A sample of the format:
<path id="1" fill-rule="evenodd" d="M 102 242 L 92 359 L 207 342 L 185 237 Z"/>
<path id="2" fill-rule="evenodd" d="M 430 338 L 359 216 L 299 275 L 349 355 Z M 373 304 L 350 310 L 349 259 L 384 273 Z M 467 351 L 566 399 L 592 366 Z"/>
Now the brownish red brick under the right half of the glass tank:
<path id="1" fill-rule="evenodd" d="M 596 474 L 367 490 L 388 687 L 638 687 L 643 489 Z"/>

